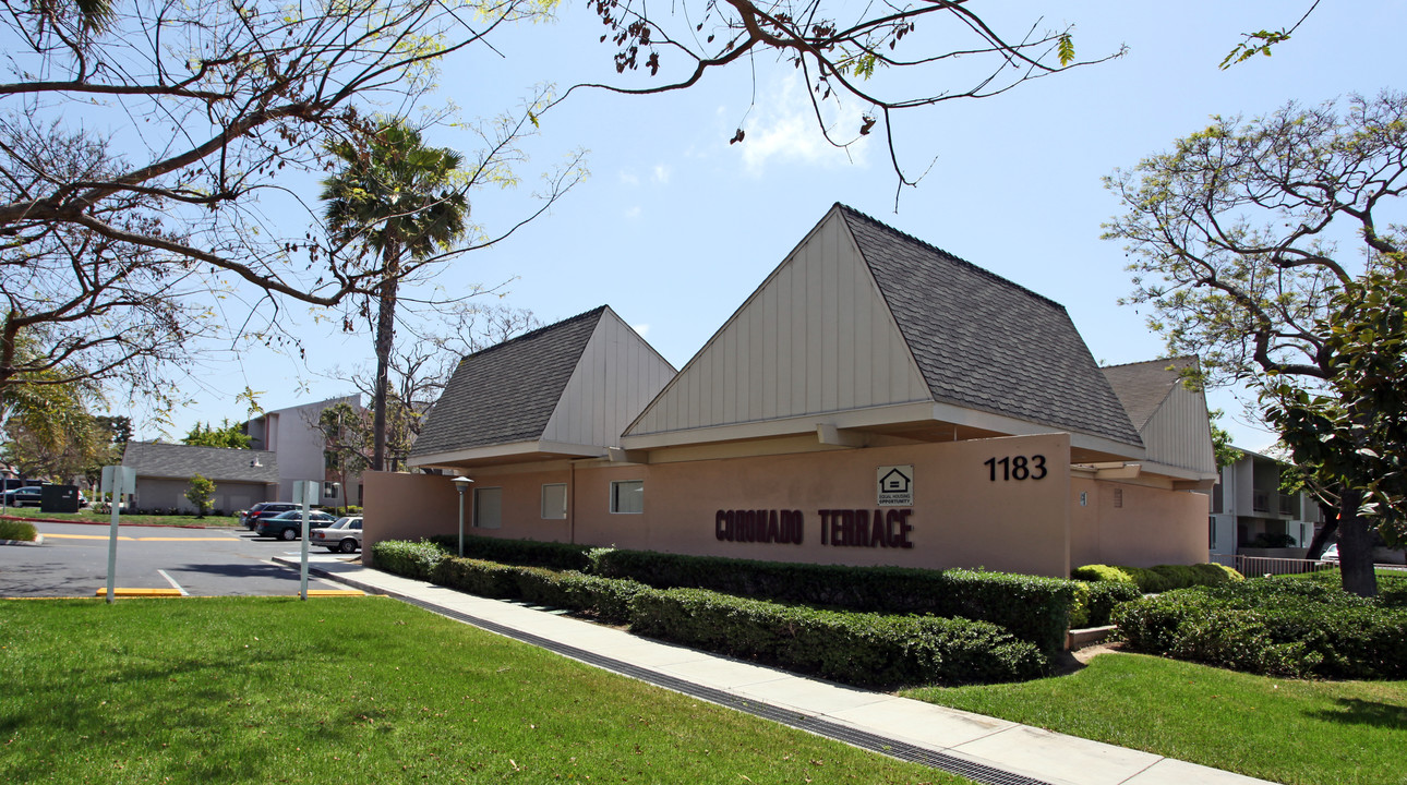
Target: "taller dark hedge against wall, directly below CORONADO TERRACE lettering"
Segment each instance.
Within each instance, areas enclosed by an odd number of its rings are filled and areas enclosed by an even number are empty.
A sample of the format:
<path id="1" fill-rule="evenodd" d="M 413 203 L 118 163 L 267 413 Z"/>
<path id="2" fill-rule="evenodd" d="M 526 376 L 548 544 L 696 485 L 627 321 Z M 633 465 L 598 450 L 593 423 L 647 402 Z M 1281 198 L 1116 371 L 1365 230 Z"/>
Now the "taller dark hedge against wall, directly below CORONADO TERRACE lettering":
<path id="1" fill-rule="evenodd" d="M 913 570 L 750 561 L 595 549 L 591 571 L 646 585 L 702 588 L 862 613 L 919 613 L 991 622 L 1045 651 L 1065 643 L 1075 582 L 975 570 Z"/>

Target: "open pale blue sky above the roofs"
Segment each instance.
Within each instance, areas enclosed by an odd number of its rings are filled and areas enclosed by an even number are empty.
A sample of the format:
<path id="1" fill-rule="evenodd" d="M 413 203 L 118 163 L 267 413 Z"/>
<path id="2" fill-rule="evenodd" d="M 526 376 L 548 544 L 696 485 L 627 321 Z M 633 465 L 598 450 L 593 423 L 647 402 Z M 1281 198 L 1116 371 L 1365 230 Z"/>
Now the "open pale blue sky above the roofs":
<path id="1" fill-rule="evenodd" d="M 508 241 L 445 267 L 421 294 L 507 283 L 498 302 L 528 308 L 543 324 L 609 304 L 682 367 L 839 201 L 1062 304 L 1096 362 L 1154 359 L 1164 347 L 1147 314 L 1119 304 L 1131 290 L 1128 259 L 1120 243 L 1100 239 L 1100 224 L 1120 212 L 1102 177 L 1171 148 L 1211 115 L 1252 117 L 1292 100 L 1318 104 L 1401 87 L 1403 1 L 1325 1 L 1273 56 L 1218 69 L 1242 32 L 1293 25 L 1309 6 L 975 3 L 983 15 L 1000 13 L 985 18 L 1006 30 L 1074 24 L 1081 58 L 1121 46 L 1127 53 L 998 97 L 899 114 L 900 160 L 927 172 L 902 190 L 898 208 L 882 136 L 848 152 L 826 145 L 809 115 L 806 84 L 771 55 L 670 94 L 575 91 L 545 113 L 539 135 L 525 142 L 522 186 L 470 194 L 471 214 L 490 232 L 511 225 L 525 214 L 536 172 L 577 149 L 588 151 L 590 177 Z M 473 120 L 515 106 L 540 83 L 559 91 L 577 82 L 646 83 L 615 76 L 613 49 L 598 42 L 602 31 L 585 4 L 564 4 L 554 23 L 495 38 L 497 52 L 447 62 L 432 98 L 453 101 Z M 923 35 L 938 32 L 920 24 L 905 46 L 920 49 L 930 41 Z M 892 94 L 957 84 L 884 76 L 896 80 Z M 841 127 L 854 127 L 862 108 L 844 107 Z M 739 128 L 744 141 L 729 143 Z M 454 128 L 433 129 L 428 141 L 476 148 Z M 307 190 L 315 198 L 315 184 Z M 348 394 L 328 371 L 369 367 L 371 336 L 288 312 L 305 359 L 259 347 L 207 366 L 194 405 L 166 426 L 139 421 L 138 433 L 179 438 L 197 421 L 245 419 L 248 405 L 236 400 L 245 387 L 260 392 L 265 409 Z M 1209 401 L 1225 411 L 1223 425 L 1237 445 L 1273 443 L 1230 391 L 1211 391 Z"/>

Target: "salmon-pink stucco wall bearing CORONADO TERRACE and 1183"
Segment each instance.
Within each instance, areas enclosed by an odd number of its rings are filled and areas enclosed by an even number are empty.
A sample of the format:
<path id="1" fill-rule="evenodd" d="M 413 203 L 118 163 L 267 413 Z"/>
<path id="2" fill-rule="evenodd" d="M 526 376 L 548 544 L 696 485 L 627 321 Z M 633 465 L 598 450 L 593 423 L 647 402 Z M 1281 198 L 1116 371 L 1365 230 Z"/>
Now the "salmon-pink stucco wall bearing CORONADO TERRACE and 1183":
<path id="1" fill-rule="evenodd" d="M 1017 456 L 1031 467 L 1033 456 L 1043 456 L 1044 476 L 1005 478 L 996 461 Z M 913 512 L 905 521 L 912 526 L 912 547 L 823 544 L 823 509 L 864 509 L 867 515 L 899 509 L 877 504 L 881 466 L 913 466 Z M 827 564 L 962 566 L 1041 575 L 1069 571 L 1067 435 L 653 466 L 466 470 L 466 476 L 477 488 L 504 488 L 502 528 L 469 529 L 484 536 Z M 611 483 L 616 480 L 644 481 L 643 513 L 609 512 Z M 570 483 L 567 521 L 542 519 L 543 483 Z M 366 488 L 363 536 L 369 543 L 456 530 L 457 497 L 449 477 L 367 473 Z M 803 542 L 719 540 L 718 512 L 730 509 L 799 511 Z M 466 509 L 466 521 L 473 521 L 471 509 Z M 885 526 L 898 533 L 888 521 Z"/>

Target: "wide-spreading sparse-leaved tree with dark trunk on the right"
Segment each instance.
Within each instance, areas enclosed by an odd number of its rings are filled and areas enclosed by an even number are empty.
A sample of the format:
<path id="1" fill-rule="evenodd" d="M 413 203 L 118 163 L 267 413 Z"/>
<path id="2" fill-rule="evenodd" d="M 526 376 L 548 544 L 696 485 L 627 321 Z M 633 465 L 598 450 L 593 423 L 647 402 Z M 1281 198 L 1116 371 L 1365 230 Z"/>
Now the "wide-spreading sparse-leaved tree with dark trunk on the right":
<path id="1" fill-rule="evenodd" d="M 1134 256 L 1126 301 L 1151 308 L 1171 353 L 1197 353 L 1210 384 L 1259 388 L 1271 374 L 1276 422 L 1285 421 L 1275 407 L 1297 401 L 1286 385 L 1309 398 L 1354 394 L 1337 387 L 1349 380 L 1332 324 L 1352 312 L 1342 297 L 1372 297 L 1393 280 L 1379 273 L 1401 260 L 1407 238 L 1383 212 L 1407 187 L 1407 96 L 1354 96 L 1342 113 L 1338 101 L 1290 103 L 1244 124 L 1217 117 L 1106 184 L 1128 210 L 1104 226 Z M 1328 470 L 1320 480 L 1349 476 Z M 1361 504 L 1361 480 L 1341 488 L 1339 553 L 1344 587 L 1372 594 L 1376 578 L 1356 550 L 1368 542 L 1363 513 L 1380 508 Z"/>

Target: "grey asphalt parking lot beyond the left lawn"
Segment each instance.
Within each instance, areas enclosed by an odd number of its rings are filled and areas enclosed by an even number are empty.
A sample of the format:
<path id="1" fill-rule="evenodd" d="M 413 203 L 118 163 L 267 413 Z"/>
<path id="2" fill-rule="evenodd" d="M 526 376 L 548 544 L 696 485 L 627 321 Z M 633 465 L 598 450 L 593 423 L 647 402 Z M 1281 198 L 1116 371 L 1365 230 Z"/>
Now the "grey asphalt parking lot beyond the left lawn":
<path id="1" fill-rule="evenodd" d="M 44 544 L 0 546 L 0 596 L 94 596 L 107 587 L 108 526 L 39 522 Z M 301 543 L 245 529 L 120 526 L 117 588 L 177 589 L 193 596 L 298 594 L 298 570 L 273 563 Z M 311 561 L 348 559 L 310 549 Z M 360 553 L 352 554 L 360 559 Z M 310 588 L 345 588 L 317 577 Z"/>

